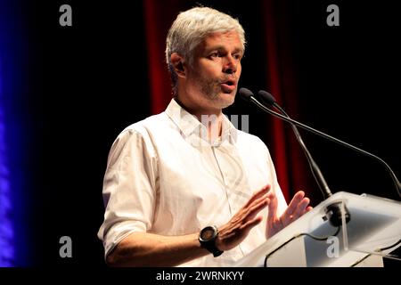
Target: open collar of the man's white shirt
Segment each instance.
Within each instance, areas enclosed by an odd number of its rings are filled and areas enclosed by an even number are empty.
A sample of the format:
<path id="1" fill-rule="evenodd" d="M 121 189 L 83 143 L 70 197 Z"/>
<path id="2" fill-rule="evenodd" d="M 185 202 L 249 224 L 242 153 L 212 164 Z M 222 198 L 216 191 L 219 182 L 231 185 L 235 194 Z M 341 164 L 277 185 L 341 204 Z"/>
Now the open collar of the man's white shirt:
<path id="1" fill-rule="evenodd" d="M 184 137 L 189 137 L 192 134 L 201 136 L 201 132 L 206 132 L 206 126 L 203 126 L 198 118 L 193 116 L 187 110 L 184 110 L 184 108 L 181 107 L 174 98 L 168 104 L 168 108 L 165 112 L 168 117 L 176 124 L 176 126 L 178 126 L 181 133 L 184 134 Z M 225 140 L 228 139 L 229 142 L 233 143 L 236 141 L 236 138 L 237 129 L 235 128 L 235 126 L 233 126 L 232 122 L 224 115 L 222 120 L 222 135 L 220 142 L 225 142 Z"/>

